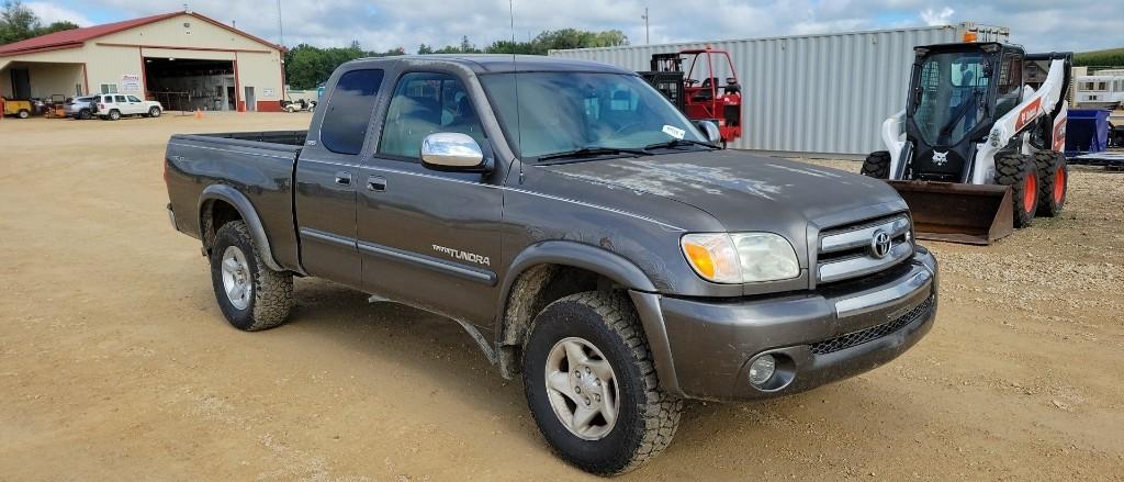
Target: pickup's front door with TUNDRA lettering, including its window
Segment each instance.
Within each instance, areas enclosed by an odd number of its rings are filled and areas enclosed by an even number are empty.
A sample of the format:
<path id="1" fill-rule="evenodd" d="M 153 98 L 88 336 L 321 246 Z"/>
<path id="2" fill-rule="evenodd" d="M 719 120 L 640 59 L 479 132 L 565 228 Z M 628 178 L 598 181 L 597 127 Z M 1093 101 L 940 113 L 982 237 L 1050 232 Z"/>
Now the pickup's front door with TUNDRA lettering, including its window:
<path id="1" fill-rule="evenodd" d="M 475 112 L 452 74 L 399 78 L 360 178 L 359 249 L 366 291 L 491 329 L 502 172 L 438 172 L 420 163 L 422 139 L 433 133 L 486 145 Z"/>

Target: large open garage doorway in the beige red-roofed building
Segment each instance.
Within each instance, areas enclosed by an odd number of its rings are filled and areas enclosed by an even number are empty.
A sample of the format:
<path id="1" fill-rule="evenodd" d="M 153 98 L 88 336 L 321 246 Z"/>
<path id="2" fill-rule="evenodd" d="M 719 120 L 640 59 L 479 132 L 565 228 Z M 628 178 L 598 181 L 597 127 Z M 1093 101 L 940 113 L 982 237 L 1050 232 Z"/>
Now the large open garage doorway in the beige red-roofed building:
<path id="1" fill-rule="evenodd" d="M 145 57 L 145 87 L 164 110 L 236 110 L 234 62 Z"/>

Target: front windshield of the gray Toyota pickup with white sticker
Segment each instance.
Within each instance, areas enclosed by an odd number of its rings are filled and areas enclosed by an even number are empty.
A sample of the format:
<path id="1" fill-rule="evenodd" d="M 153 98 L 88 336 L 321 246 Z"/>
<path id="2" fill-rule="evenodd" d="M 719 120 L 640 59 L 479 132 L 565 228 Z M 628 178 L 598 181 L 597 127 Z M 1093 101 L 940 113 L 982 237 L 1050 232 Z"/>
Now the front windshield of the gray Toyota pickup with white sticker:
<path id="1" fill-rule="evenodd" d="M 671 102 L 635 75 L 528 72 L 480 80 L 513 148 L 525 158 L 643 149 L 677 139 L 686 142 L 669 145 L 706 142 Z"/>

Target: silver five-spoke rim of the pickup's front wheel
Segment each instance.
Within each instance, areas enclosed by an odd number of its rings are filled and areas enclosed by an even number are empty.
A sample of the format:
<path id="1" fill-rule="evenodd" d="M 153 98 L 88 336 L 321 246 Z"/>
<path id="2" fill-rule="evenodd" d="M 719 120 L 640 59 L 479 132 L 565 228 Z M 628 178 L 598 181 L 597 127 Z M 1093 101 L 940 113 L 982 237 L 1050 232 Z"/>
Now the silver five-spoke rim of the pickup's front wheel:
<path id="1" fill-rule="evenodd" d="M 569 337 L 546 355 L 546 397 L 566 430 L 584 440 L 613 431 L 620 413 L 620 389 L 609 361 L 584 338 Z"/>

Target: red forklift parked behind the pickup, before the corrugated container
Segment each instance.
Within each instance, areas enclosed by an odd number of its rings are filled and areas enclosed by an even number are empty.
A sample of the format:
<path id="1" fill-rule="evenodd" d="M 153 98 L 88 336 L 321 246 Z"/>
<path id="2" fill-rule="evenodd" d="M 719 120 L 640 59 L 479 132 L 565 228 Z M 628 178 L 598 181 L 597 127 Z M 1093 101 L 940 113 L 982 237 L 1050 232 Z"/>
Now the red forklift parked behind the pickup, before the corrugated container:
<path id="1" fill-rule="evenodd" d="M 683 71 L 683 61 L 690 66 Z M 716 69 L 715 61 L 725 58 L 725 69 Z M 701 66 L 706 63 L 706 67 Z M 696 73 L 698 67 L 698 73 Z M 671 100 L 688 119 L 710 120 L 718 125 L 723 146 L 742 137 L 742 85 L 729 53 L 707 46 L 674 54 L 654 54 L 651 71 L 640 72 L 652 87 Z M 716 70 L 729 76 L 719 82 Z"/>

